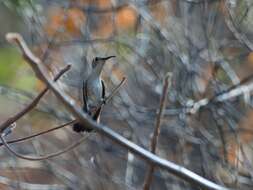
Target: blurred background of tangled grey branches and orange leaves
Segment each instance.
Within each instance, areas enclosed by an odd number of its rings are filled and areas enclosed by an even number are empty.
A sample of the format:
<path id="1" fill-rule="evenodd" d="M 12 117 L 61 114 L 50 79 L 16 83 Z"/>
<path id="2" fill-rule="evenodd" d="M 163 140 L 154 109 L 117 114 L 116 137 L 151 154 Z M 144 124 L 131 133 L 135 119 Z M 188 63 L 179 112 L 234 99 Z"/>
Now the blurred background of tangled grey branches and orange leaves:
<path id="1" fill-rule="evenodd" d="M 94 57 L 108 61 L 106 93 L 127 78 L 103 109 L 101 123 L 149 149 L 163 79 L 172 74 L 157 154 L 220 185 L 253 188 L 251 0 L 0 0 L 0 122 L 43 88 L 20 51 L 5 40 L 22 34 L 80 106 L 81 84 Z M 218 94 L 238 85 L 238 96 Z M 240 88 L 244 85 L 244 88 Z M 207 105 L 198 106 L 210 98 Z M 195 105 L 195 109 L 190 109 Z M 190 111 L 189 111 L 190 110 Z M 7 139 L 73 119 L 52 93 L 17 121 Z M 251 121 L 252 120 L 252 121 Z M 75 142 L 71 126 L 17 143 L 25 155 L 45 155 Z M 98 133 L 56 158 L 31 162 L 0 147 L 0 189 L 142 189 L 148 164 Z M 156 168 L 151 189 L 196 190 Z"/>

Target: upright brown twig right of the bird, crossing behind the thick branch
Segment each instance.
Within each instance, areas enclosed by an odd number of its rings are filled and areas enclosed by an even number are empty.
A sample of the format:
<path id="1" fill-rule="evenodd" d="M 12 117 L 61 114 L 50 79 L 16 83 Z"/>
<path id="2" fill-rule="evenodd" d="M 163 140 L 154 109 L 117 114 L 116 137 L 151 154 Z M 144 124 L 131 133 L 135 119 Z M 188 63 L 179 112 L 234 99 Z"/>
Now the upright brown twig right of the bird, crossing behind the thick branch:
<path id="1" fill-rule="evenodd" d="M 167 74 L 164 80 L 164 85 L 163 85 L 163 92 L 162 92 L 162 96 L 160 99 L 160 106 L 159 106 L 159 112 L 156 118 L 156 124 L 155 124 L 155 128 L 154 128 L 154 133 L 153 136 L 151 138 L 151 152 L 155 154 L 156 152 L 156 145 L 158 142 L 158 136 L 160 134 L 160 126 L 161 126 L 161 120 L 163 117 L 163 111 L 166 107 L 166 103 L 167 103 L 167 95 L 168 95 L 168 89 L 169 89 L 169 85 L 170 85 L 170 80 L 171 80 L 171 75 Z M 154 164 L 150 165 L 146 178 L 144 180 L 144 185 L 143 185 L 143 190 L 149 190 L 150 189 L 150 185 L 152 183 L 152 177 L 153 177 L 153 172 L 154 172 L 155 166 Z"/>

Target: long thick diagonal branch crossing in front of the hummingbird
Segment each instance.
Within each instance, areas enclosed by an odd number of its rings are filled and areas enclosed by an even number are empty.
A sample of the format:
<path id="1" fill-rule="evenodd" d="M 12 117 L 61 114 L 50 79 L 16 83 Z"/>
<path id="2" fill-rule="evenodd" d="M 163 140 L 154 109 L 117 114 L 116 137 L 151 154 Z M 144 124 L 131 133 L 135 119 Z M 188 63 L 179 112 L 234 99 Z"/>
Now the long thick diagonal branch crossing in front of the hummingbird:
<path id="1" fill-rule="evenodd" d="M 15 41 L 16 43 L 18 43 L 18 46 L 20 47 L 23 54 L 28 53 L 24 56 L 24 58 L 34 69 L 34 72 L 37 74 L 37 76 L 40 77 L 40 79 L 47 84 L 47 86 L 52 90 L 52 92 L 58 97 L 58 99 L 64 104 L 64 106 L 78 119 L 78 121 L 80 121 L 82 125 L 87 128 L 95 129 L 97 132 L 113 140 L 117 144 L 123 146 L 129 151 L 135 153 L 136 155 L 140 156 L 150 164 L 166 169 L 171 174 L 187 181 L 192 185 L 196 185 L 203 189 L 228 190 L 228 188 L 213 183 L 180 165 L 177 165 L 175 163 L 156 156 L 155 154 L 122 137 L 112 129 L 94 122 L 92 119 L 89 118 L 86 113 L 81 110 L 80 106 L 75 104 L 75 101 L 71 97 L 69 97 L 65 92 L 61 91 L 57 87 L 57 85 L 48 78 L 45 66 L 41 64 L 40 60 L 37 57 L 31 54 L 31 51 L 29 49 L 26 49 L 28 47 L 26 46 L 23 38 L 19 34 L 7 34 L 7 38 L 10 41 Z"/>

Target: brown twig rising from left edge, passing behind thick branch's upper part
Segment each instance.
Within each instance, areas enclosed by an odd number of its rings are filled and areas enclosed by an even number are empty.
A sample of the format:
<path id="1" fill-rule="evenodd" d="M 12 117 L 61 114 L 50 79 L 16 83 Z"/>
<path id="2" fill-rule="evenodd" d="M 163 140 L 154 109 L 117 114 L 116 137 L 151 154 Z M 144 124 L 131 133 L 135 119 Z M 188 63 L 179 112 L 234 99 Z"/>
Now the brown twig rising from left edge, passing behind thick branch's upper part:
<path id="1" fill-rule="evenodd" d="M 54 78 L 54 81 L 57 81 L 65 72 L 67 72 L 70 69 L 70 65 L 67 65 L 65 68 L 63 68 Z M 42 90 L 35 99 L 28 104 L 23 110 L 19 111 L 16 115 L 10 117 L 7 119 L 4 123 L 0 125 L 0 132 L 2 133 L 7 127 L 9 127 L 11 124 L 16 122 L 18 119 L 20 119 L 22 116 L 24 116 L 26 113 L 28 113 L 30 110 L 32 110 L 40 101 L 40 99 L 46 94 L 46 92 L 49 90 L 48 87 L 46 87 L 44 90 Z"/>

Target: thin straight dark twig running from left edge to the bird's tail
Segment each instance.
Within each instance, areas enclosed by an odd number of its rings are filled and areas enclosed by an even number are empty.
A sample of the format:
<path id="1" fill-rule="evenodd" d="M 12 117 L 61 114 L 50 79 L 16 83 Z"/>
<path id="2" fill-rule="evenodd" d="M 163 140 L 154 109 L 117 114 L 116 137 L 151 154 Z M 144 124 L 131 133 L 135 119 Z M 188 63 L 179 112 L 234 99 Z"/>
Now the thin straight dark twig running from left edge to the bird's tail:
<path id="1" fill-rule="evenodd" d="M 47 133 L 50 133 L 50 132 L 58 130 L 58 129 L 61 129 L 61 128 L 66 127 L 68 125 L 72 125 L 75 122 L 77 122 L 77 120 L 72 120 L 72 121 L 64 123 L 64 124 L 62 124 L 60 126 L 57 126 L 57 127 L 52 128 L 52 129 L 48 129 L 48 130 L 45 130 L 45 131 L 42 131 L 42 132 L 39 132 L 39 133 L 36 133 L 36 134 L 33 134 L 33 135 L 30 135 L 30 136 L 27 136 L 27 137 L 23 137 L 23 138 L 18 138 L 18 139 L 15 139 L 15 140 L 7 141 L 7 143 L 8 144 L 13 144 L 13 143 L 18 143 L 18 142 L 23 142 L 23 141 L 29 140 L 31 138 L 47 134 Z M 3 143 L 0 143 L 0 147 L 3 146 L 3 145 L 4 145 Z"/>

